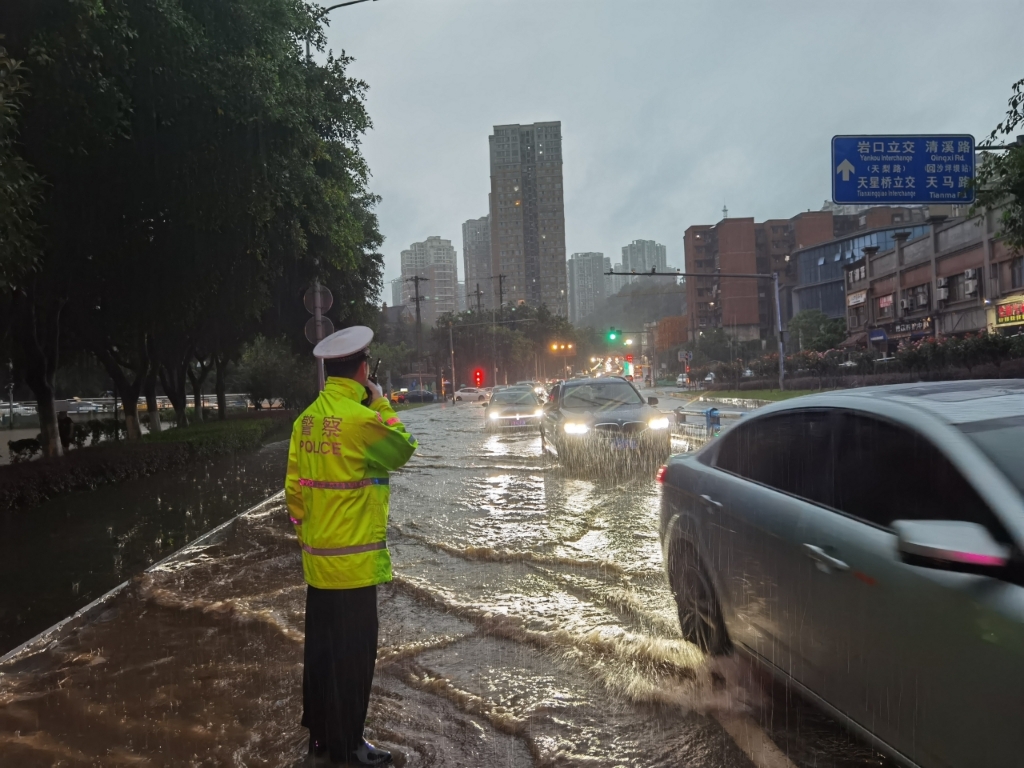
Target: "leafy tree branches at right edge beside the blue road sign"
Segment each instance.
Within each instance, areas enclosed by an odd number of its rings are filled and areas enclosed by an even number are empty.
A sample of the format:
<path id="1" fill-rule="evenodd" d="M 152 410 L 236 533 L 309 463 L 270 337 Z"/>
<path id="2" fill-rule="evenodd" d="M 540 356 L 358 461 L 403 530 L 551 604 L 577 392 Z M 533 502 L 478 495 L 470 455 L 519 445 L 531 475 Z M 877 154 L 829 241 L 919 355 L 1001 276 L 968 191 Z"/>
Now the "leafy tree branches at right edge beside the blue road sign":
<path id="1" fill-rule="evenodd" d="M 1013 85 L 1007 116 L 989 134 L 989 142 L 1006 140 L 1024 126 L 1024 79 Z M 1024 143 L 1005 152 L 982 156 L 973 181 L 977 191 L 972 215 L 979 210 L 998 211 L 999 234 L 1014 251 L 1024 251 Z"/>

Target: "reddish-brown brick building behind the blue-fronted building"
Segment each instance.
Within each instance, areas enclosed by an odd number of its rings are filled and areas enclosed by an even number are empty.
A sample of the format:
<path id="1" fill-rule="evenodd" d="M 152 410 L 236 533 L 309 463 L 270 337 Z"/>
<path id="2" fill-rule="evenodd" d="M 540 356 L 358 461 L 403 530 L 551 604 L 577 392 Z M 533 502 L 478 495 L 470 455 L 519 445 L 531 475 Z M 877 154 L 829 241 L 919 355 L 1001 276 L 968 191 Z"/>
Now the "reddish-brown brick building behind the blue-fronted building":
<path id="1" fill-rule="evenodd" d="M 839 215 L 830 210 L 807 211 L 761 223 L 753 218 L 725 218 L 718 224 L 688 227 L 684 240 L 686 271 L 695 274 L 686 281 L 691 337 L 703 329 L 723 328 L 737 341 L 760 340 L 767 345 L 776 329 L 772 273 L 779 275 L 778 303 L 784 328 L 801 309 L 825 305 L 811 290 L 815 286 L 807 282 L 809 272 L 797 268 L 798 262 L 804 264 L 801 255 L 805 251 L 812 252 L 814 246 L 825 248 L 821 244 L 833 248 L 834 242 L 853 231 L 884 223 L 905 226 L 915 219 L 923 221 L 923 216 L 922 209 L 882 207 Z M 843 245 L 835 247 L 842 251 Z M 816 265 L 821 254 L 813 253 Z M 821 281 L 835 282 L 842 294 L 842 266 L 836 269 L 835 275 L 824 273 Z M 730 278 L 725 274 L 728 272 L 768 276 Z M 842 301 L 841 295 L 831 307 L 831 316 L 842 316 Z"/>

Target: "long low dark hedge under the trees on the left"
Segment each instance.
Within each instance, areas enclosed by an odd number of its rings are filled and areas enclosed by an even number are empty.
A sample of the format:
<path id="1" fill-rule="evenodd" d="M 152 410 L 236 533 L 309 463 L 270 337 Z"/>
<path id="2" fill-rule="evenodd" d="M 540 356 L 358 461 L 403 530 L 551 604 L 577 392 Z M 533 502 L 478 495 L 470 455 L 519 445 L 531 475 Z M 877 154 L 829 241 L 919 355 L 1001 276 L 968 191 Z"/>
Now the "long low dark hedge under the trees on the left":
<path id="1" fill-rule="evenodd" d="M 71 451 L 63 457 L 0 467 L 0 510 L 33 507 L 73 490 L 146 477 L 220 454 L 251 451 L 275 432 L 284 438 L 294 412 L 228 419 L 146 435 L 141 442 Z"/>

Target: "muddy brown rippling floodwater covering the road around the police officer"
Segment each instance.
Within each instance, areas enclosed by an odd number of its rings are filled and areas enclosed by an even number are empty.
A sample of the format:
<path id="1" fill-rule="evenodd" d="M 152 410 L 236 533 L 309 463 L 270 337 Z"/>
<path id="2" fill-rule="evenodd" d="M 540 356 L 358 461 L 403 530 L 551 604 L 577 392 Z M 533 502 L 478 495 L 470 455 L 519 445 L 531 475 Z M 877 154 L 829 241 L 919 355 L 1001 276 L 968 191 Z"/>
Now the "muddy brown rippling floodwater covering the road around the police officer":
<path id="1" fill-rule="evenodd" d="M 420 450 L 392 477 L 368 723 L 397 765 L 884 764 L 680 639 L 649 474 L 566 474 L 470 404 L 402 416 Z M 303 596 L 283 505 L 243 516 L 0 666 L 0 764 L 306 765 Z"/>

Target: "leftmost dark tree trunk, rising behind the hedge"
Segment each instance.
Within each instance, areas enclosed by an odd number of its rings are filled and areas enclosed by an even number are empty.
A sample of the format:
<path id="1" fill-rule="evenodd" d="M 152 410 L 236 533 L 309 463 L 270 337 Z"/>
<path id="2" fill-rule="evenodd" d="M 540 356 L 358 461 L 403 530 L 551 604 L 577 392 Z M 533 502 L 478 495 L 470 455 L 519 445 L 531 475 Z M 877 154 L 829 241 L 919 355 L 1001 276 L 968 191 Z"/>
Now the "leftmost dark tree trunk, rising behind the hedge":
<path id="1" fill-rule="evenodd" d="M 36 396 L 36 412 L 42 434 L 43 456 L 61 456 L 57 415 L 53 404 L 53 376 L 57 369 L 60 311 L 63 301 L 53 301 L 49 311 L 40 312 L 33 296 L 15 295 L 17 331 L 13 352 L 25 371 L 25 383 Z M 41 316 L 42 314 L 42 316 Z"/>

